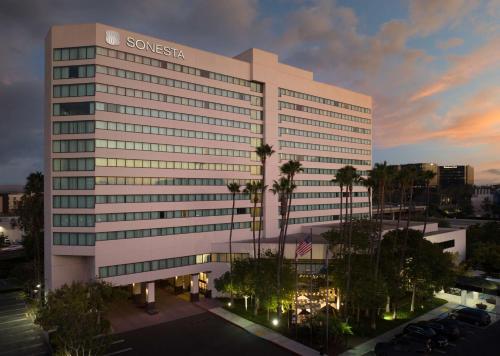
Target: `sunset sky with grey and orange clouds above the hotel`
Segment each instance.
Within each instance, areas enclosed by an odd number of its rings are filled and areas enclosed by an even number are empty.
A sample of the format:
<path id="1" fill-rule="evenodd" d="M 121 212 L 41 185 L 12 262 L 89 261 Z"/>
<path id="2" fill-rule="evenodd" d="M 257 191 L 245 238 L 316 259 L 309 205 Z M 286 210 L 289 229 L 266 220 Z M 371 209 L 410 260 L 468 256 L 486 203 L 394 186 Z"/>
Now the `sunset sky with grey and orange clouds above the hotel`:
<path id="1" fill-rule="evenodd" d="M 91 22 L 275 52 L 373 97 L 374 162 L 471 164 L 500 183 L 500 0 L 2 0 L 0 184 L 43 170 L 50 26 Z"/>

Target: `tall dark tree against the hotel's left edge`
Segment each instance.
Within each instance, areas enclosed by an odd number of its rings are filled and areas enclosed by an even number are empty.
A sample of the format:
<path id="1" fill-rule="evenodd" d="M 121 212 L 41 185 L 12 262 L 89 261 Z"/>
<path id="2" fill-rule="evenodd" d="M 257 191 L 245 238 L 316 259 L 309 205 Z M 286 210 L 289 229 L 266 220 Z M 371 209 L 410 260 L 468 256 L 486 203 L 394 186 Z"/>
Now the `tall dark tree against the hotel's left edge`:
<path id="1" fill-rule="evenodd" d="M 26 178 L 24 194 L 16 214 L 23 231 L 23 246 L 28 258 L 33 259 L 34 285 L 42 282 L 43 275 L 43 174 L 31 173 Z"/>

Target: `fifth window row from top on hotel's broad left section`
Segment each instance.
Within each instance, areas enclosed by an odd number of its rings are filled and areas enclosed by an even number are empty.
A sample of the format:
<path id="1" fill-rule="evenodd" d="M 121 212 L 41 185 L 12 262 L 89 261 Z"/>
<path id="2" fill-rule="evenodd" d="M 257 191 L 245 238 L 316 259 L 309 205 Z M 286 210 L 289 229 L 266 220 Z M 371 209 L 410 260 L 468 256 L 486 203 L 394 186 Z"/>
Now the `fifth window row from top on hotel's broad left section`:
<path id="1" fill-rule="evenodd" d="M 132 128 L 133 131 L 127 131 L 127 129 L 132 129 Z M 209 141 L 247 143 L 253 147 L 258 147 L 261 144 L 261 139 L 257 137 L 220 134 L 208 131 L 171 129 L 167 127 L 139 125 L 139 124 L 119 124 L 113 121 L 96 121 L 96 129 L 135 132 L 135 133 L 161 135 L 161 136 L 196 138 L 199 140 L 209 140 Z"/>

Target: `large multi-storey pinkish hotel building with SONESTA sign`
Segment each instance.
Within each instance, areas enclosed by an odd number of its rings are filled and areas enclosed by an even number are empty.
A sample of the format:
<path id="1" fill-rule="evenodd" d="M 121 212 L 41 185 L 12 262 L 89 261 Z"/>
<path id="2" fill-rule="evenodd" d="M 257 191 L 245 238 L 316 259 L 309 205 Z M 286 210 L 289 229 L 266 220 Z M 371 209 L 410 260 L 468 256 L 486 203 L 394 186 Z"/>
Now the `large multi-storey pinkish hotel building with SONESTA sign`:
<path id="1" fill-rule="evenodd" d="M 261 179 L 257 146 L 276 151 L 269 187 L 283 162 L 303 163 L 289 234 L 338 221 L 338 168 L 371 168 L 371 97 L 274 53 L 226 57 L 102 24 L 54 26 L 45 74 L 48 289 L 99 278 L 147 288 L 153 302 L 155 281 L 169 280 L 210 295 L 229 269 L 226 184 Z M 366 214 L 366 189 L 354 190 L 354 213 Z M 236 199 L 233 241 L 248 241 L 252 203 Z M 264 201 L 273 239 L 278 201 Z"/>

